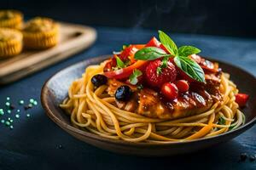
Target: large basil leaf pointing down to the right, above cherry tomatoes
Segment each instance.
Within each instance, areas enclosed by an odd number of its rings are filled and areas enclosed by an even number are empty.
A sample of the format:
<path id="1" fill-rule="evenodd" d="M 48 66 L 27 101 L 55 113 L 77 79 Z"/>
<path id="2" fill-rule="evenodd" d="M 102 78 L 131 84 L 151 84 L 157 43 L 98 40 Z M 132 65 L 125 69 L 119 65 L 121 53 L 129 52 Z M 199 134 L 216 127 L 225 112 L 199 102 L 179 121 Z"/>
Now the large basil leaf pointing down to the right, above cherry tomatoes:
<path id="1" fill-rule="evenodd" d="M 198 82 L 206 82 L 205 73 L 193 59 L 188 57 L 176 56 L 174 62 L 178 68 L 184 71 L 189 77 L 195 79 Z"/>

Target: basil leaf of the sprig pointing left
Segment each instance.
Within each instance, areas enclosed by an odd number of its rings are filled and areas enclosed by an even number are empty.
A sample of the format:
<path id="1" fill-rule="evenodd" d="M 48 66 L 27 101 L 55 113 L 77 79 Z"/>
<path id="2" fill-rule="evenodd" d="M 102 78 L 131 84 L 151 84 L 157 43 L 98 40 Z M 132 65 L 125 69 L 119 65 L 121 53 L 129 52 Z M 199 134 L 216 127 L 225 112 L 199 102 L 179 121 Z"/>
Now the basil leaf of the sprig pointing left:
<path id="1" fill-rule="evenodd" d="M 161 48 L 148 47 L 138 50 L 136 54 L 134 54 L 134 59 L 154 60 L 168 55 L 170 54 L 166 54 L 166 52 Z"/>

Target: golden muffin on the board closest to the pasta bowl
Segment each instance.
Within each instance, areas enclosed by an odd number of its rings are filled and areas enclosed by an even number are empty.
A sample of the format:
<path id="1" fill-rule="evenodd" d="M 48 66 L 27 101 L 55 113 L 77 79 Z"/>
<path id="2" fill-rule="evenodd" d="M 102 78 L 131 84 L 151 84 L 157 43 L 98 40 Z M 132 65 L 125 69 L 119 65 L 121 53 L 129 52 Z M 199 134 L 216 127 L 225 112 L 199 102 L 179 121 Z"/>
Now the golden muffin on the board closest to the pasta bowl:
<path id="1" fill-rule="evenodd" d="M 58 42 L 59 26 L 49 18 L 36 17 L 26 23 L 22 33 L 25 48 L 51 48 Z"/>

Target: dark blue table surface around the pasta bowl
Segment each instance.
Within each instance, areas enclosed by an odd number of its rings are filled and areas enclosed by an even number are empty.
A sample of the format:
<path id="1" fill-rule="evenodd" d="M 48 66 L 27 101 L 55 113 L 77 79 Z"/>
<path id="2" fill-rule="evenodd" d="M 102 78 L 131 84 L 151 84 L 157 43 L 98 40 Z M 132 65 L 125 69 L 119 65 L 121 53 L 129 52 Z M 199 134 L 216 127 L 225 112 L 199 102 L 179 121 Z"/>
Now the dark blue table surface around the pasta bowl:
<path id="1" fill-rule="evenodd" d="M 207 150 L 183 156 L 144 158 L 122 156 L 97 149 L 74 139 L 44 114 L 39 103 L 44 82 L 56 71 L 83 59 L 111 54 L 125 43 L 147 42 L 156 31 L 98 27 L 98 39 L 89 49 L 61 63 L 39 71 L 18 82 L 0 87 L 0 108 L 6 97 L 12 103 L 33 98 L 38 105 L 24 111 L 20 118 L 15 112 L 0 117 L 11 117 L 14 129 L 0 124 L 0 169 L 177 169 L 197 167 L 207 169 L 256 169 L 256 161 L 238 161 L 240 154 L 256 154 L 256 126 L 236 139 Z M 171 34 L 178 45 L 184 43 L 202 49 L 202 54 L 228 61 L 256 75 L 256 39 L 235 37 L 211 37 L 202 35 Z M 26 117 L 29 113 L 31 116 Z M 62 147 L 60 147 L 60 145 Z"/>

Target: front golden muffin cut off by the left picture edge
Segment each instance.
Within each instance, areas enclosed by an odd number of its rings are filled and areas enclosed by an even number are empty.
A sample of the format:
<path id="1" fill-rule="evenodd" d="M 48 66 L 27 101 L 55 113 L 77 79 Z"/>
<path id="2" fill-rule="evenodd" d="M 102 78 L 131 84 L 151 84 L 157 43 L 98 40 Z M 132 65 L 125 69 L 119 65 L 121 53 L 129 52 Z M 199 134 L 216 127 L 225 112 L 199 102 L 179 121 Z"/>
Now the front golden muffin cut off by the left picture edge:
<path id="1" fill-rule="evenodd" d="M 0 28 L 0 58 L 20 54 L 22 34 L 10 28 Z"/>

